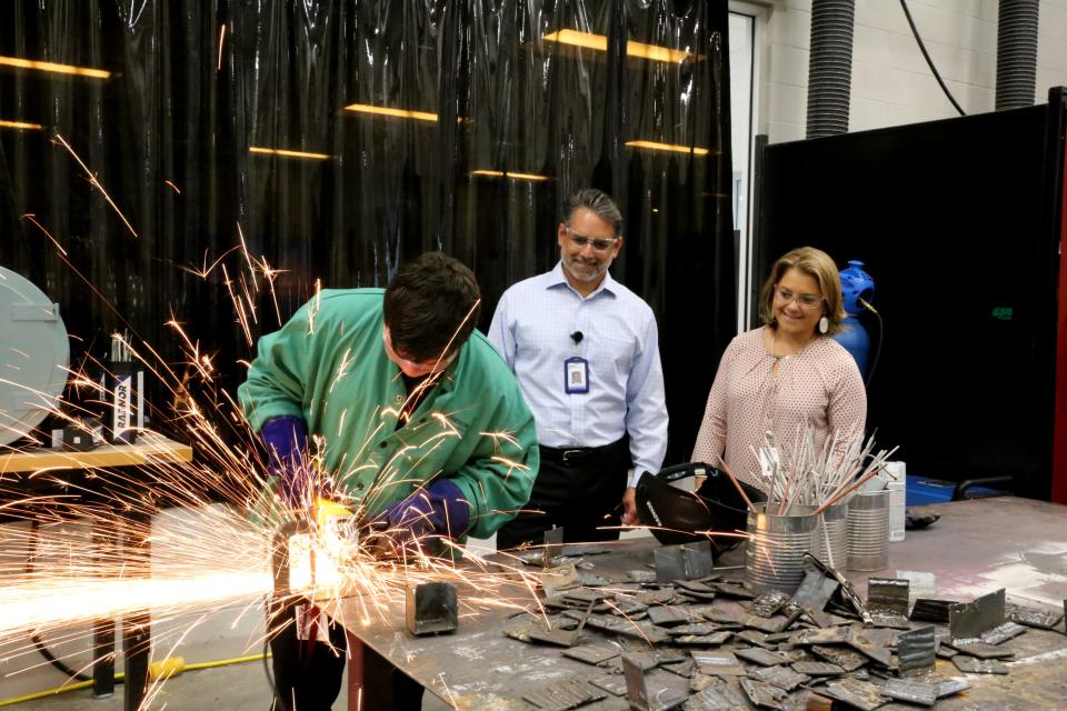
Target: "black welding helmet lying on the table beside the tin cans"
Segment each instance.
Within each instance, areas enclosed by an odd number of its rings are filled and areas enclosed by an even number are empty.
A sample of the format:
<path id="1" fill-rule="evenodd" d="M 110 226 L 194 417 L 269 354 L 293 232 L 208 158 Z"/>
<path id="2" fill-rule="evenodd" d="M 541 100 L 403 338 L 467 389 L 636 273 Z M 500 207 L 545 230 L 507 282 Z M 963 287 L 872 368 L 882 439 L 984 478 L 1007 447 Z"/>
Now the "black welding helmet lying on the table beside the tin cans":
<path id="1" fill-rule="evenodd" d="M 687 477 L 705 477 L 696 493 L 671 485 L 671 482 Z M 759 489 L 738 483 L 754 503 L 767 500 Z M 726 473 L 701 462 L 687 462 L 656 474 L 641 474 L 637 482 L 637 514 L 664 545 L 711 539 L 718 554 L 734 548 L 740 539 L 736 535 L 695 535 L 694 531 L 744 531 L 748 507 Z"/>

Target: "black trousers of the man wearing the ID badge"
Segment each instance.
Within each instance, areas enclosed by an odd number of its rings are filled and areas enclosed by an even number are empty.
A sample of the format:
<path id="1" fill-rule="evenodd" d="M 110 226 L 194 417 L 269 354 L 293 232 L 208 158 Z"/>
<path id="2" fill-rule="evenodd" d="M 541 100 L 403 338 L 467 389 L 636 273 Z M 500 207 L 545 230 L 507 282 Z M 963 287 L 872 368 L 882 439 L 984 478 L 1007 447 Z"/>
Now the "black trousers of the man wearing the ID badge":
<path id="1" fill-rule="evenodd" d="M 523 507 L 530 511 L 519 513 L 497 531 L 497 549 L 540 544 L 552 525 L 564 527 L 564 541 L 568 543 L 618 540 L 618 528 L 601 527 L 620 524 L 631 465 L 629 440 L 580 450 L 541 447 L 540 453 L 534 492 Z"/>

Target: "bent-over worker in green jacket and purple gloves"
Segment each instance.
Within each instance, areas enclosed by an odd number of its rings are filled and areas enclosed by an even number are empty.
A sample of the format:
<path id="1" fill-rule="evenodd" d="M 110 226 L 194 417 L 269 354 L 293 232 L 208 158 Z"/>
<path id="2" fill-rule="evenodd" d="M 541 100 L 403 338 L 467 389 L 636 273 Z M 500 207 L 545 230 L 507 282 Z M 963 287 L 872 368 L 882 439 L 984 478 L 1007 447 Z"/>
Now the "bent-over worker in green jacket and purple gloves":
<path id="1" fill-rule="evenodd" d="M 385 291 L 325 290 L 262 337 L 238 397 L 270 453 L 275 495 L 309 511 L 330 489 L 409 558 L 510 520 L 537 475 L 536 429 L 515 375 L 475 331 L 479 303 L 473 273 L 430 252 Z M 309 433 L 326 484 L 307 465 Z M 269 627 L 280 630 L 272 709 L 329 709 L 343 630 L 300 604 L 272 605 Z M 363 660 L 365 708 L 417 703 L 405 674 L 370 648 Z"/>

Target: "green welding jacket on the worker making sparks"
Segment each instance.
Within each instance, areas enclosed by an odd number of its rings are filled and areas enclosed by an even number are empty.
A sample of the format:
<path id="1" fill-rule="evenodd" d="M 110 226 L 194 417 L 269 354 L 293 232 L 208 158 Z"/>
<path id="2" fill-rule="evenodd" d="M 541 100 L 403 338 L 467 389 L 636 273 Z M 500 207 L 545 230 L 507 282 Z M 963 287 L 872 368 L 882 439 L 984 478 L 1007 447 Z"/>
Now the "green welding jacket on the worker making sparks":
<path id="1" fill-rule="evenodd" d="M 475 331 L 397 428 L 407 400 L 382 342 L 381 289 L 323 290 L 281 330 L 259 339 L 238 399 L 253 431 L 302 417 L 325 467 L 368 515 L 436 477 L 470 507 L 468 534 L 488 538 L 530 498 L 538 449 L 515 375 Z"/>

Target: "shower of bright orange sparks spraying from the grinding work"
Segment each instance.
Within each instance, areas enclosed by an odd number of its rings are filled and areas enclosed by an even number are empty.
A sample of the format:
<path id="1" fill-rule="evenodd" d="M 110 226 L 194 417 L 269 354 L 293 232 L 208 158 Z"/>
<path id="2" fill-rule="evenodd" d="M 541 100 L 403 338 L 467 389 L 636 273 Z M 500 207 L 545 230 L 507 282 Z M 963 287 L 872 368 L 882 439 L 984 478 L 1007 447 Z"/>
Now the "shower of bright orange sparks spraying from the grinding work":
<path id="1" fill-rule="evenodd" d="M 66 141 L 63 144 L 68 147 Z M 62 254 L 60 240 L 34 216 L 24 219 L 47 236 L 62 261 L 92 289 Z M 232 264 L 227 263 L 228 258 Z M 268 298 L 269 293 L 277 311 L 273 284 L 283 272 L 271 268 L 265 259 L 253 258 L 242 233 L 237 247 L 213 261 L 205 254 L 199 268 L 177 268 L 205 280 L 219 270 L 236 321 L 249 344 L 255 342 L 259 328 L 255 318 L 258 299 Z M 98 290 L 92 291 L 103 299 Z M 316 282 L 313 301 L 320 293 L 321 284 Z M 108 308 L 114 311 L 110 304 Z M 129 327 L 124 319 L 120 320 Z M 180 643 L 192 627 L 220 612 L 238 610 L 242 617 L 263 617 L 275 589 L 270 564 L 275 547 L 291 548 L 290 541 L 276 540 L 276 534 L 283 522 L 295 518 L 305 522 L 306 543 L 315 551 L 318 564 L 310 577 L 293 579 L 288 594 L 316 600 L 320 607 L 333 610 L 340 610 L 340 601 L 348 600 L 347 614 L 357 611 L 357 619 L 349 620 L 350 623 L 393 620 L 395 605 L 405 599 L 407 588 L 426 581 L 451 581 L 469 591 L 461 597 L 465 615 L 492 608 L 541 612 L 532 595 L 538 579 L 516 557 L 505 554 L 503 560 L 490 561 L 477 551 L 467 551 L 463 562 L 456 563 L 449 558 L 428 555 L 417 541 L 387 549 L 390 554 L 382 557 L 377 539 L 368 542 L 358 537 L 346 538 L 338 535 L 336 528 L 320 525 L 310 513 L 315 510 L 313 492 L 341 490 L 322 471 L 318 457 L 325 447 L 322 438 L 315 438 L 315 451 L 307 458 L 313 483 L 308 487 L 306 505 L 300 510 L 309 513 L 285 507 L 269 493 L 269 462 L 255 443 L 237 402 L 217 382 L 219 372 L 205 347 L 187 332 L 173 312 L 167 326 L 183 353 L 181 363 L 164 359 L 132 328 L 128 331 L 131 336 L 123 337 L 122 342 L 146 379 L 154 380 L 172 395 L 171 409 L 164 412 L 152 408 L 152 419 L 166 420 L 170 432 L 191 444 L 197 453 L 195 462 L 167 461 L 160 454 L 149 458 L 149 464 L 84 473 L 74 471 L 74 463 L 12 473 L 0 462 L 0 514 L 13 521 L 0 529 L 3 673 L 19 673 L 43 663 L 34 657 L 36 640 L 44 640 L 58 657 L 71 660 L 76 668 L 88 669 L 84 654 L 87 650 L 91 657 L 98 653 L 93 651 L 92 624 L 100 620 L 129 621 L 149 615 L 157 628 L 153 644 L 158 655 L 160 650 Z M 343 378 L 346 372 L 347 368 L 339 368 L 335 377 Z M 66 424 L 84 428 L 82 418 L 93 414 L 94 405 L 106 407 L 112 394 L 101 390 L 100 375 L 104 374 L 108 383 L 112 378 L 108 363 L 90 356 L 72 367 L 69 374 L 71 392 L 80 391 L 79 397 L 61 401 L 52 415 Z M 27 399 L 34 402 L 44 402 L 41 395 L 27 392 Z M 420 447 L 432 450 L 443 440 L 461 437 L 449 413 L 435 412 L 433 418 L 441 429 L 429 434 Z M 139 434 L 140 443 L 161 442 L 154 432 Z M 497 451 L 517 450 L 518 442 L 509 432 L 485 435 L 493 441 Z M 6 453 L 21 452 L 12 451 L 10 445 L 0 448 L 0 455 Z M 69 457 L 77 462 L 78 453 Z M 527 469 L 503 454 L 500 459 L 513 469 Z M 362 498 L 362 509 L 343 497 L 339 503 L 359 513 L 375 501 L 387 500 L 388 487 L 412 480 L 401 461 L 398 453 L 382 468 L 380 484 Z M 48 493 L 31 493 L 31 483 Z M 376 532 L 387 541 L 391 540 L 390 533 Z M 446 541 L 446 545 L 461 551 L 458 544 Z M 192 622 L 188 622 L 190 615 Z M 159 632 L 160 622 L 174 623 L 177 629 Z M 267 630 L 266 634 L 277 632 Z M 262 643 L 262 638 L 248 640 L 249 649 Z M 74 658 L 80 661 L 73 662 Z M 153 682 L 146 707 L 157 698 L 163 681 Z"/>

